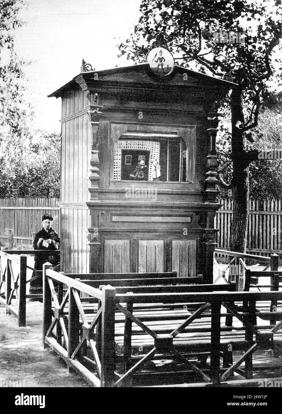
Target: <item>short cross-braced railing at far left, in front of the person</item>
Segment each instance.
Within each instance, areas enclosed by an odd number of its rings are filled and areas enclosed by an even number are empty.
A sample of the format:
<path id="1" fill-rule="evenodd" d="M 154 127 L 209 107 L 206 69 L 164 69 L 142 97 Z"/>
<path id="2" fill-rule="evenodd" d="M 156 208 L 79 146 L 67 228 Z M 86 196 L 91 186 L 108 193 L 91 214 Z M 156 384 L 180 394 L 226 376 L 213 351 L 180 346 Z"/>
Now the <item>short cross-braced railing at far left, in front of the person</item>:
<path id="1" fill-rule="evenodd" d="M 0 304 L 7 314 L 18 319 L 18 326 L 26 326 L 26 299 L 42 299 L 42 294 L 26 294 L 26 284 L 42 277 L 42 270 L 27 265 L 27 255 L 46 253 L 46 250 L 0 250 Z M 60 254 L 60 250 L 52 250 Z M 26 279 L 27 269 L 36 271 L 36 276 Z M 56 270 L 60 270 L 56 266 Z M 15 300 L 16 303 L 12 303 Z"/>

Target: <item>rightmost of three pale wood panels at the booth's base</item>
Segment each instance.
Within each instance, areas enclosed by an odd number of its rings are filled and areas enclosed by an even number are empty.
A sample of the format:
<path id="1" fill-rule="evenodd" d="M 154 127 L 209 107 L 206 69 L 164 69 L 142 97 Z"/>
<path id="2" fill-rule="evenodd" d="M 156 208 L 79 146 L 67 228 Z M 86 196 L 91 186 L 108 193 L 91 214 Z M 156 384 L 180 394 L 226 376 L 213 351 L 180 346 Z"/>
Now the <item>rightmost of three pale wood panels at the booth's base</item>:
<path id="1" fill-rule="evenodd" d="M 172 240 L 172 271 L 178 277 L 196 276 L 196 240 Z"/>

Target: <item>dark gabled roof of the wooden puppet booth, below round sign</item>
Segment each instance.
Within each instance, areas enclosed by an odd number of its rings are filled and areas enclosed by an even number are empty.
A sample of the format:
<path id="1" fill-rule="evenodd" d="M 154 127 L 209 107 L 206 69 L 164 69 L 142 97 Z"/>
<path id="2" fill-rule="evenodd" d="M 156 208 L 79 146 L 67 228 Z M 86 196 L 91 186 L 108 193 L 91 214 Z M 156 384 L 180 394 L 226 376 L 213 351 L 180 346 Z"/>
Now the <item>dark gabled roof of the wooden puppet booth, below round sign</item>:
<path id="1" fill-rule="evenodd" d="M 144 79 L 144 72 L 148 75 L 147 79 Z M 113 69 L 106 70 L 93 70 L 91 72 L 82 72 L 79 75 L 75 76 L 70 82 L 63 85 L 61 88 L 57 89 L 52 94 L 48 95 L 48 98 L 55 96 L 56 98 L 62 96 L 65 91 L 71 91 L 77 89 L 78 82 L 77 80 L 83 76 L 85 82 L 91 82 L 91 84 L 97 82 L 97 84 L 103 84 L 105 82 L 115 82 L 115 83 L 125 83 L 125 84 L 140 84 L 145 87 L 146 84 L 155 84 L 158 87 L 159 84 L 167 84 L 171 86 L 181 86 L 181 87 L 191 87 L 191 84 L 185 82 L 179 82 L 176 79 L 177 74 L 184 74 L 194 81 L 203 83 L 203 85 L 211 85 L 223 87 L 224 89 L 231 89 L 236 87 L 237 84 L 229 82 L 225 79 L 219 79 L 204 73 L 196 72 L 191 69 L 187 69 L 182 66 L 174 65 L 174 69 L 170 75 L 167 77 L 158 77 L 151 72 L 149 63 L 138 63 L 131 66 L 125 67 L 115 67 Z M 98 75 L 98 81 L 95 81 L 93 75 Z M 124 76 L 122 76 L 124 74 Z M 131 76 L 130 76 L 131 75 Z M 138 76 L 139 75 L 139 76 Z M 195 83 L 196 86 L 196 83 Z"/>

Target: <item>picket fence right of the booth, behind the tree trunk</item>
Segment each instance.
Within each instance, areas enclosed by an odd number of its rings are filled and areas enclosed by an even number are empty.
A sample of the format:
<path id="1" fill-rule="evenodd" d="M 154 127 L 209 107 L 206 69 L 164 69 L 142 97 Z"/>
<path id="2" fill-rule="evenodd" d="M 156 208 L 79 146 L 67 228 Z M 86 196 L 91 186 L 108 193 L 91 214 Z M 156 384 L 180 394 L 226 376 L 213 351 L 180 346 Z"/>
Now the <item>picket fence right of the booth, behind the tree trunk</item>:
<path id="1" fill-rule="evenodd" d="M 217 247 L 230 249 L 230 231 L 232 222 L 232 201 L 219 200 L 220 210 L 215 214 Z M 261 205 L 262 204 L 262 205 Z M 282 254 L 281 200 L 249 201 L 247 232 L 247 252 L 269 256 L 270 253 Z"/>

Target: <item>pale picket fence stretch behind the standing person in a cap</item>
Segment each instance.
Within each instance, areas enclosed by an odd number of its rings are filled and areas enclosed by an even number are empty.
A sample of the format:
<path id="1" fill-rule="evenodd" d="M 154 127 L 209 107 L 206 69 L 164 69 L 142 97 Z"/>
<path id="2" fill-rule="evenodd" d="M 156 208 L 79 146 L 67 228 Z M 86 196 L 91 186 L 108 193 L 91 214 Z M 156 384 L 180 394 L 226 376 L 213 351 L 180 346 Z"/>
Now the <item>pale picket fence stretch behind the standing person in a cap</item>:
<path id="1" fill-rule="evenodd" d="M 14 230 L 14 243 L 32 244 L 32 234 L 41 230 L 42 214 L 52 214 L 53 227 L 60 232 L 58 198 L 0 199 L 0 243 L 9 243 L 9 229 Z"/>

